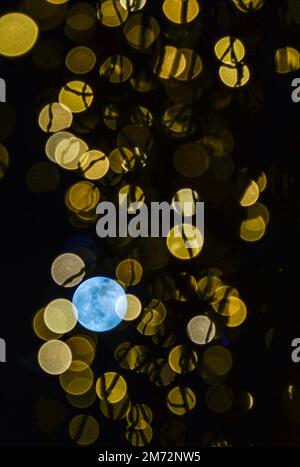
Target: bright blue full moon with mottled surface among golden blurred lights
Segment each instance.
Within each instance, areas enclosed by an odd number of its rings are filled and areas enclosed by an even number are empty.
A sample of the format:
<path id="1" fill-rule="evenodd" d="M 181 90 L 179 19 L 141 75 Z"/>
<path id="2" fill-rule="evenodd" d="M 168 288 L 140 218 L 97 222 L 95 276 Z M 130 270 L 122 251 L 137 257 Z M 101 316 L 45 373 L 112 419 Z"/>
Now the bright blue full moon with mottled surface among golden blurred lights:
<path id="1" fill-rule="evenodd" d="M 127 313 L 127 295 L 121 285 L 108 277 L 92 277 L 73 296 L 78 322 L 90 331 L 105 332 L 117 327 Z"/>

